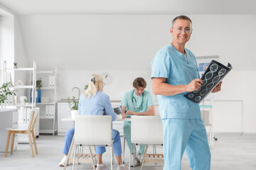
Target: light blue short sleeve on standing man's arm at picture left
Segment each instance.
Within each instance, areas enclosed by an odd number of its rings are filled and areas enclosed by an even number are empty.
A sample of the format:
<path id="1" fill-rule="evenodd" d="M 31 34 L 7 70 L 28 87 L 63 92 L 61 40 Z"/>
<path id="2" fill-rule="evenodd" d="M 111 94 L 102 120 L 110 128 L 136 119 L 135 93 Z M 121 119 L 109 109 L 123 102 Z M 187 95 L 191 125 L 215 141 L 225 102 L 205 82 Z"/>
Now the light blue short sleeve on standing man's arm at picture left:
<path id="1" fill-rule="evenodd" d="M 151 68 L 151 78 L 164 77 L 168 79 L 171 70 L 171 57 L 169 56 L 169 53 L 164 49 L 157 52 L 151 62 Z"/>

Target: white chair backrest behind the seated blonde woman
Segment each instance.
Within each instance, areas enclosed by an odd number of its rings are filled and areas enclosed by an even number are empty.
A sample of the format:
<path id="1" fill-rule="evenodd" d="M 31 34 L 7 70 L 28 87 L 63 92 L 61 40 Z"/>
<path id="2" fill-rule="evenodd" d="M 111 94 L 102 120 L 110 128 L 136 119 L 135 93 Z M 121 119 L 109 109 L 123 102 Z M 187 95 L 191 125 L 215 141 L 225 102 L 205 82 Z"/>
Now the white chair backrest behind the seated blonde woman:
<path id="1" fill-rule="evenodd" d="M 111 145 L 111 115 L 76 115 L 75 144 Z"/>

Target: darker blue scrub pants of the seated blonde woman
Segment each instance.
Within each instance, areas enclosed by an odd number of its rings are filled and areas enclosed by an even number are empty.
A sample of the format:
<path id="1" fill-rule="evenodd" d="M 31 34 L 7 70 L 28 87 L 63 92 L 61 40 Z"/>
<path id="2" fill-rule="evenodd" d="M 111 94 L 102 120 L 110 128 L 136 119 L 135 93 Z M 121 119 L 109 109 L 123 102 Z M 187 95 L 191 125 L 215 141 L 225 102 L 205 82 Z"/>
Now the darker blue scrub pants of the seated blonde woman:
<path id="1" fill-rule="evenodd" d="M 64 140 L 64 147 L 63 147 L 63 154 L 68 154 L 71 142 L 73 140 L 74 133 L 75 133 L 75 128 L 71 128 L 70 130 L 68 130 L 68 132 L 66 132 L 65 140 Z M 114 155 L 116 157 L 118 157 L 122 154 L 122 145 L 121 145 L 119 132 L 117 130 L 112 130 L 112 140 L 114 140 L 113 141 Z M 96 152 L 96 154 L 103 154 L 104 152 L 106 152 L 106 148 L 105 147 L 95 147 L 95 152 Z"/>

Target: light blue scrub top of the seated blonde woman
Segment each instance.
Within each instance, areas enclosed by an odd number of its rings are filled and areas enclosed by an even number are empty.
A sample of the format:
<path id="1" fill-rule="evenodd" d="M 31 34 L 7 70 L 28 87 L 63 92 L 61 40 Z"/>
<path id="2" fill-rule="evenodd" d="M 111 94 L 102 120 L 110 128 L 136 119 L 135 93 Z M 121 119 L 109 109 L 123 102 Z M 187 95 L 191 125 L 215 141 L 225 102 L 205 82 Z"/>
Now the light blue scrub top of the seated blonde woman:
<path id="1" fill-rule="evenodd" d="M 80 115 L 103 115 L 104 111 L 106 115 L 112 116 L 112 121 L 116 120 L 117 114 L 114 113 L 110 97 L 107 94 L 97 91 L 96 95 L 91 96 L 90 99 L 83 94 L 80 96 L 78 103 L 78 112 Z"/>

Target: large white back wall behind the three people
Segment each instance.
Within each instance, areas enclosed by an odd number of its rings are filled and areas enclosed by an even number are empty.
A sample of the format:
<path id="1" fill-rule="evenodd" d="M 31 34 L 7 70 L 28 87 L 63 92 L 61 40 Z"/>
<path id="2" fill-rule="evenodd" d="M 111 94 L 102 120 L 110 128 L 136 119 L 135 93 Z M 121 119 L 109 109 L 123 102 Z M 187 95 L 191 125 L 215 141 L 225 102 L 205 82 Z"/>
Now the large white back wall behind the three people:
<path id="1" fill-rule="evenodd" d="M 220 62 L 230 62 L 234 68 L 223 80 L 222 92 L 215 94 L 215 100 L 242 100 L 244 132 L 256 133 L 256 33 L 252 30 L 256 15 L 190 17 L 193 34 L 188 49 L 196 56 L 219 55 Z M 92 73 L 110 72 L 114 80 L 105 87 L 105 93 L 117 99 L 132 88 L 135 77 L 150 75 L 155 53 L 171 42 L 169 28 L 173 18 L 174 15 L 46 15 L 21 16 L 20 23 L 29 61 L 36 60 L 40 69 L 58 67 L 58 98 L 76 95 L 76 91 L 70 92 L 72 87 L 82 89 Z M 221 115 L 217 114 L 216 120 L 220 120 Z M 233 121 L 240 122 L 238 119 Z M 216 126 L 221 131 L 225 124 Z"/>

